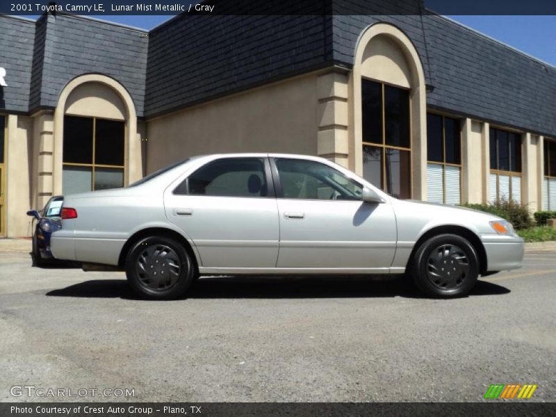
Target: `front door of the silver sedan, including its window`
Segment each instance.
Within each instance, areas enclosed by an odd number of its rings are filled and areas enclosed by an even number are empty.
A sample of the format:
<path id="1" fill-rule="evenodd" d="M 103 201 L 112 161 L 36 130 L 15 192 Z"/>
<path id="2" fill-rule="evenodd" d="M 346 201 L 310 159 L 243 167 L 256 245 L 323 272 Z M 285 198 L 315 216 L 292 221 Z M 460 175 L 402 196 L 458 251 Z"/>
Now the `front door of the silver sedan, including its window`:
<path id="1" fill-rule="evenodd" d="M 363 202 L 363 186 L 330 165 L 272 158 L 280 219 L 278 268 L 388 272 L 396 247 L 389 203 Z"/>

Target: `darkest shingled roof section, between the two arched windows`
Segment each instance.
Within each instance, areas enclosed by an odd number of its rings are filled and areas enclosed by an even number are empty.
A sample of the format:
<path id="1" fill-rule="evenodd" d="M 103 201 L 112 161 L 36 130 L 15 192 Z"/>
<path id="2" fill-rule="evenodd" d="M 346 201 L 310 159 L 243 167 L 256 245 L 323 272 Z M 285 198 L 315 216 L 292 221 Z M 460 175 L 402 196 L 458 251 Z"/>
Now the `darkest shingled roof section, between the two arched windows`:
<path id="1" fill-rule="evenodd" d="M 149 34 L 145 114 L 322 67 L 331 17 L 185 16 Z"/>

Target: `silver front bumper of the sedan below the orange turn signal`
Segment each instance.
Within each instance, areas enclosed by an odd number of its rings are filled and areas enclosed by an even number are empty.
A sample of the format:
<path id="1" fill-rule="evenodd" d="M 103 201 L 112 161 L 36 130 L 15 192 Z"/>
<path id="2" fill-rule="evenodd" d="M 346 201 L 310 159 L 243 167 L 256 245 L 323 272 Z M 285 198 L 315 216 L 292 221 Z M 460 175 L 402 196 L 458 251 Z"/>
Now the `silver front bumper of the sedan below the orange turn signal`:
<path id="1" fill-rule="evenodd" d="M 489 272 L 521 268 L 525 243 L 518 236 L 481 236 L 486 252 L 486 270 Z"/>

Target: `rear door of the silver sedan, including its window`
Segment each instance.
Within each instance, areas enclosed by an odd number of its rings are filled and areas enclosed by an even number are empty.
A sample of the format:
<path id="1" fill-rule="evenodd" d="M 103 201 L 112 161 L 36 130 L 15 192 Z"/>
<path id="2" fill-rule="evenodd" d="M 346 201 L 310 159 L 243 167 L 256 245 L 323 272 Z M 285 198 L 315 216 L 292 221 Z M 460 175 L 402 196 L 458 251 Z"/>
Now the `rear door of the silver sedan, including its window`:
<path id="1" fill-rule="evenodd" d="M 165 210 L 193 240 L 203 268 L 275 267 L 279 224 L 268 158 L 206 163 L 165 193 Z"/>

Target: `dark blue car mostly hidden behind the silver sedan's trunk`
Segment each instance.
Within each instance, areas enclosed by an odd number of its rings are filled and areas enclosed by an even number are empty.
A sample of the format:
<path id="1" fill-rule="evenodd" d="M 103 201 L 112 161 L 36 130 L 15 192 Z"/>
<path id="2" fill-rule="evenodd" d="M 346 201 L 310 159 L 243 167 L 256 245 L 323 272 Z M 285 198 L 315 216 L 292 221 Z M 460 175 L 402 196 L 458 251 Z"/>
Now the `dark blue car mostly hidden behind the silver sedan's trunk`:
<path id="1" fill-rule="evenodd" d="M 41 266 L 52 261 L 54 256 L 50 251 L 50 236 L 52 232 L 62 227 L 60 211 L 64 197 L 56 196 L 49 199 L 42 211 L 30 210 L 27 215 L 35 218 L 35 232 L 33 233 L 33 265 Z"/>

